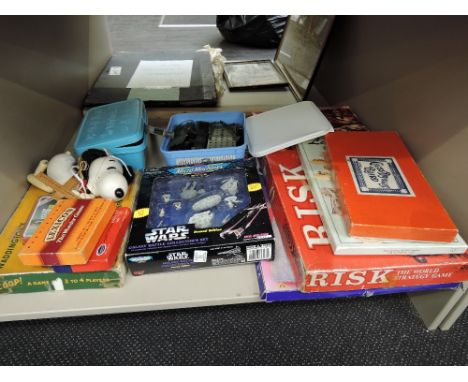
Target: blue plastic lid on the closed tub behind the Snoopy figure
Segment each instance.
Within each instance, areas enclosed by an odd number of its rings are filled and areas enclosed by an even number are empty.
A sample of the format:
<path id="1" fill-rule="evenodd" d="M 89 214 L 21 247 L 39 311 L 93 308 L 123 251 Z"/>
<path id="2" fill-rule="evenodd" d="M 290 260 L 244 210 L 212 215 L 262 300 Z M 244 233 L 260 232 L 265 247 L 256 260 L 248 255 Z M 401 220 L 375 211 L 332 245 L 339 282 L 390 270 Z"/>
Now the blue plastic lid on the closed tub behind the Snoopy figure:
<path id="1" fill-rule="evenodd" d="M 75 140 L 75 151 L 89 148 L 114 148 L 142 139 L 145 109 L 141 99 L 130 99 L 89 109 Z"/>

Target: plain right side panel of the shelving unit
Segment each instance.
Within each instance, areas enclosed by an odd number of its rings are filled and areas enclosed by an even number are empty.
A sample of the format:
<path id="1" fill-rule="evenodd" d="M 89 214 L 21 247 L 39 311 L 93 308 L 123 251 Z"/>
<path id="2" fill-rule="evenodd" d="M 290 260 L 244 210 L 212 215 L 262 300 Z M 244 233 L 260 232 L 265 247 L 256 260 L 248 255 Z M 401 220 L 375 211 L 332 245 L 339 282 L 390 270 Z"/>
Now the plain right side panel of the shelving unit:
<path id="1" fill-rule="evenodd" d="M 337 17 L 315 85 L 398 130 L 468 239 L 468 17 Z M 430 208 L 430 206 L 427 206 Z"/>

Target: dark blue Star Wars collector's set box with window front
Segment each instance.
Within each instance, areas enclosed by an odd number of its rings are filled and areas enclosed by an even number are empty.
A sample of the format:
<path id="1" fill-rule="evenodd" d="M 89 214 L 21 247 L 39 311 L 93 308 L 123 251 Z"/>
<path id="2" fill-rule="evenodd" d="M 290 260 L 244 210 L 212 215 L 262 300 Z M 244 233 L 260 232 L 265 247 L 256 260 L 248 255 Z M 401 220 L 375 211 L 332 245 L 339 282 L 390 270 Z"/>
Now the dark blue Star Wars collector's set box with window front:
<path id="1" fill-rule="evenodd" d="M 145 170 L 126 251 L 133 275 L 273 256 L 254 158 Z"/>

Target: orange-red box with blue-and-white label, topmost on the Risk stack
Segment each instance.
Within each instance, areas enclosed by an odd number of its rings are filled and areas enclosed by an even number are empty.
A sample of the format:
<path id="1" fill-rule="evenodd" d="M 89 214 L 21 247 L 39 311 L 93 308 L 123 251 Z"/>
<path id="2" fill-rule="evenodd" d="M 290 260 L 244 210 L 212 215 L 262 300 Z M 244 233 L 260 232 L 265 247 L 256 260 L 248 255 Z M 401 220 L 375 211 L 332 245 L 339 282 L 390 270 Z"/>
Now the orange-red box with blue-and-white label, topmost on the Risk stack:
<path id="1" fill-rule="evenodd" d="M 457 227 L 396 132 L 325 137 L 349 235 L 451 242 Z"/>

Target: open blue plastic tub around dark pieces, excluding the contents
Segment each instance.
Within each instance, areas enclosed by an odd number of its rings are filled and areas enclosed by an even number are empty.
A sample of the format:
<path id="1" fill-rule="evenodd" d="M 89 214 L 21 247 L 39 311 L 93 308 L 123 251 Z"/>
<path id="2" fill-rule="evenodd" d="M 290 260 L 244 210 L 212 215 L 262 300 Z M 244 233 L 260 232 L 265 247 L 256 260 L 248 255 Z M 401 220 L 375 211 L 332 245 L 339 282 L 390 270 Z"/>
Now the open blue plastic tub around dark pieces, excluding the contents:
<path id="1" fill-rule="evenodd" d="M 166 131 L 173 132 L 177 125 L 187 121 L 222 121 L 228 124 L 239 124 L 240 126 L 242 126 L 242 129 L 244 131 L 244 143 L 240 146 L 222 147 L 216 149 L 169 150 L 168 146 L 171 138 L 166 136 L 164 137 L 161 144 L 161 153 L 163 154 L 169 166 L 180 166 L 186 164 L 198 164 L 207 162 L 221 162 L 244 158 L 245 149 L 247 147 L 244 113 L 238 111 L 226 111 L 175 114 L 169 120 L 169 124 L 167 126 Z"/>

